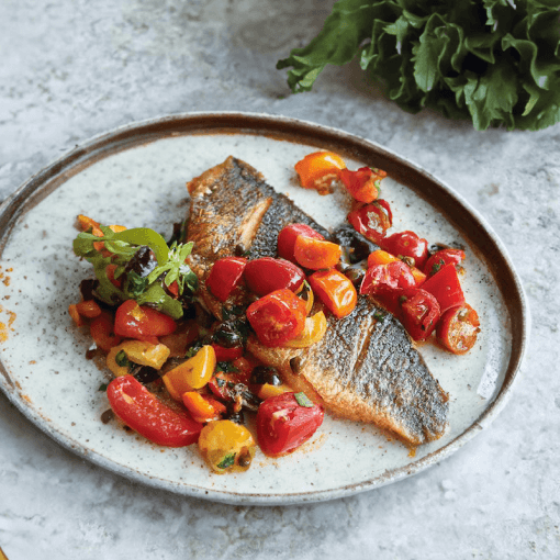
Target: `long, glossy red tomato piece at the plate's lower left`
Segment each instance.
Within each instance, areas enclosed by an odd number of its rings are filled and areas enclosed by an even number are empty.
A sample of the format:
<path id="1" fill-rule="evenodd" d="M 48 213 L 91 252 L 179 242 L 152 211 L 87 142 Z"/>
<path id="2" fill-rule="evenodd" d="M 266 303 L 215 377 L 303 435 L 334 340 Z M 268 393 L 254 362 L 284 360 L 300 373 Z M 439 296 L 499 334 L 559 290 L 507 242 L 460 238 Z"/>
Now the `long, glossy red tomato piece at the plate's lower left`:
<path id="1" fill-rule="evenodd" d="M 113 379 L 107 396 L 116 416 L 154 444 L 184 447 L 199 439 L 202 424 L 187 411 L 175 411 L 159 402 L 133 376 Z"/>

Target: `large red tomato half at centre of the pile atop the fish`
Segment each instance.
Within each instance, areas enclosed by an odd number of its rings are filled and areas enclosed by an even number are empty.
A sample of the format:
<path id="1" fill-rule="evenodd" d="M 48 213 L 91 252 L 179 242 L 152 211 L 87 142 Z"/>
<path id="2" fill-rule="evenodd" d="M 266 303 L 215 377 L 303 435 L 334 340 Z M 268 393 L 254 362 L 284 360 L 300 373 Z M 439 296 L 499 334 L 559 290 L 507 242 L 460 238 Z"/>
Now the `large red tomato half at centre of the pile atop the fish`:
<path id="1" fill-rule="evenodd" d="M 305 302 L 290 290 L 277 290 L 247 307 L 247 318 L 261 344 L 281 346 L 305 326 Z"/>

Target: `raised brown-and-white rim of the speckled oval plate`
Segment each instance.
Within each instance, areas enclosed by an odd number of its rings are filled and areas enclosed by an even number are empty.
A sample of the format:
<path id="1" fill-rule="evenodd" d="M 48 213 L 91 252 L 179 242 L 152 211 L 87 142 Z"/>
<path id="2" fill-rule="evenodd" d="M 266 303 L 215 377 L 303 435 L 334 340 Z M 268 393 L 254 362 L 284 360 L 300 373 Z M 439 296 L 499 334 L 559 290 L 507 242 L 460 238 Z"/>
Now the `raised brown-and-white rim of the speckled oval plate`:
<path id="1" fill-rule="evenodd" d="M 205 124 L 203 131 L 200 130 L 202 123 Z M 504 381 L 497 395 L 489 404 L 486 410 L 483 411 L 464 432 L 459 434 L 446 446 L 414 461 L 412 464 L 385 471 L 381 475 L 373 477 L 367 481 L 322 491 L 253 494 L 205 489 L 195 486 L 192 483 L 180 484 L 157 477 L 150 477 L 128 467 L 123 467 L 119 462 L 110 460 L 92 449 L 88 449 L 82 444 L 74 440 L 69 435 L 56 430 L 48 425 L 45 418 L 18 392 L 15 384 L 10 379 L 0 359 L 0 389 L 7 395 L 8 400 L 36 427 L 42 429 L 43 433 L 47 434 L 59 445 L 113 473 L 135 482 L 183 495 L 206 499 L 214 502 L 246 505 L 291 505 L 324 502 L 354 495 L 374 488 L 381 488 L 410 475 L 417 474 L 435 462 L 449 457 L 470 441 L 477 434 L 489 427 L 493 419 L 502 412 L 512 395 L 513 388 L 519 378 L 520 366 L 529 341 L 530 313 L 527 298 L 520 279 L 513 267 L 508 251 L 484 216 L 446 182 L 436 178 L 411 159 L 400 156 L 397 153 L 373 141 L 343 130 L 276 114 L 240 111 L 201 111 L 136 121 L 117 126 L 109 132 L 97 134 L 43 167 L 2 202 L 0 205 L 0 260 L 13 226 L 20 216 L 43 200 L 43 198 L 56 190 L 59 184 L 64 183 L 74 175 L 79 173 L 81 169 L 115 153 L 138 145 L 146 145 L 165 137 L 183 136 L 187 134 L 217 134 L 225 133 L 225 131 L 229 131 L 232 134 L 269 135 L 278 139 L 290 139 L 291 142 L 305 139 L 305 144 L 307 145 L 328 145 L 331 149 L 346 153 L 357 159 L 371 159 L 371 155 L 373 154 L 376 158 L 385 164 L 384 167 L 380 167 L 385 169 L 389 176 L 397 177 L 396 180 L 399 182 L 428 200 L 432 206 L 439 209 L 445 214 L 446 219 L 455 228 L 458 228 L 462 233 L 466 231 L 464 227 L 458 226 L 456 220 L 450 219 L 449 210 L 445 210 L 452 205 L 458 205 L 458 208 L 467 212 L 468 221 L 471 224 L 479 227 L 482 226 L 482 231 L 478 232 L 478 234 L 483 235 L 492 242 L 492 253 L 497 254 L 502 260 L 502 265 L 505 265 L 505 269 L 501 267 L 499 270 L 496 266 L 491 266 L 488 258 L 484 258 L 486 265 L 489 265 L 489 270 L 493 273 L 493 279 L 495 280 L 496 276 L 503 278 L 506 285 L 511 289 L 507 293 L 507 298 L 502 289 L 500 289 L 500 291 L 506 303 L 513 333 L 512 355 Z M 339 149 L 335 149 L 333 146 L 338 146 Z M 368 154 L 369 157 L 366 158 L 366 154 Z M 412 186 L 411 181 L 415 181 L 415 184 Z M 427 193 L 419 190 L 422 187 L 426 186 L 428 187 Z M 434 201 L 434 198 L 429 195 L 432 191 L 444 193 L 441 202 L 437 203 Z M 472 235 L 467 237 L 471 239 Z M 479 246 L 479 244 L 477 244 L 477 246 Z M 486 253 L 484 253 L 483 256 L 486 257 Z M 517 314 L 513 313 L 514 307 Z"/>

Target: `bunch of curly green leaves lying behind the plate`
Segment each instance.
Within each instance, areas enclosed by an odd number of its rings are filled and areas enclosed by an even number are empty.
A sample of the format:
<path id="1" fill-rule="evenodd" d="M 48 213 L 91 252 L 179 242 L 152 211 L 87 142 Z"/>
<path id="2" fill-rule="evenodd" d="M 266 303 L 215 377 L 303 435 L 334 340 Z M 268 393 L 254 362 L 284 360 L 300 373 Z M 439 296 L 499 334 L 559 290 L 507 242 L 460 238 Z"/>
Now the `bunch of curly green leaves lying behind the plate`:
<path id="1" fill-rule="evenodd" d="M 310 91 L 327 64 L 360 66 L 416 113 L 429 107 L 477 130 L 560 121 L 559 0 L 339 0 L 323 30 L 277 68 Z"/>

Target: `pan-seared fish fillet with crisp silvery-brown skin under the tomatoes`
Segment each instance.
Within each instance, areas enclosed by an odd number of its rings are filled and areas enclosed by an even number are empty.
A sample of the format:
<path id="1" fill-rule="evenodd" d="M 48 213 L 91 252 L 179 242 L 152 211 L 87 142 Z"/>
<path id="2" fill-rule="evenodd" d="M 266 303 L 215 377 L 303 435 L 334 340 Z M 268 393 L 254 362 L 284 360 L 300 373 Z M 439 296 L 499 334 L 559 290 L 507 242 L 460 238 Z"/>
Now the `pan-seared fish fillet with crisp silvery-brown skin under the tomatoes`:
<path id="1" fill-rule="evenodd" d="M 328 237 L 253 167 L 233 157 L 188 188 L 187 240 L 195 244 L 190 264 L 201 280 L 202 299 L 217 318 L 222 304 L 204 289 L 217 258 L 239 249 L 248 258 L 276 256 L 278 233 L 290 223 L 305 223 Z M 240 289 L 226 305 L 248 298 Z M 399 321 L 365 296 L 345 318 L 326 315 L 327 332 L 310 348 L 267 348 L 250 337 L 248 349 L 336 416 L 373 423 L 411 446 L 441 437 L 449 397 Z"/>

